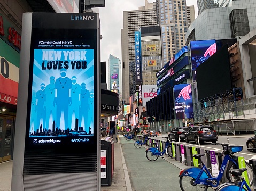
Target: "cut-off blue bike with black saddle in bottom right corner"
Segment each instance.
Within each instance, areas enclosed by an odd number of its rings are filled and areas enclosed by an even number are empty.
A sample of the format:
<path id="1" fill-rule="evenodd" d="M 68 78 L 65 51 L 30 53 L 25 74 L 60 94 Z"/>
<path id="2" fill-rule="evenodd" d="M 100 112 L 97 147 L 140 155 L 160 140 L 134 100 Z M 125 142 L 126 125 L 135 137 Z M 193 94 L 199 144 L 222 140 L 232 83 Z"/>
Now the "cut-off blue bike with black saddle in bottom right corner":
<path id="1" fill-rule="evenodd" d="M 230 170 L 229 173 L 231 173 L 231 175 L 238 177 L 237 182 L 236 183 L 224 183 L 221 186 L 219 186 L 215 191 L 250 191 L 250 186 L 246 183 L 246 181 L 244 180 L 244 177 L 242 177 L 242 173 L 244 171 L 246 171 L 246 168 L 242 168 L 242 169 L 234 169 L 234 170 Z M 241 181 L 242 180 L 242 181 Z M 246 187 L 246 189 L 244 188 L 244 185 Z"/>

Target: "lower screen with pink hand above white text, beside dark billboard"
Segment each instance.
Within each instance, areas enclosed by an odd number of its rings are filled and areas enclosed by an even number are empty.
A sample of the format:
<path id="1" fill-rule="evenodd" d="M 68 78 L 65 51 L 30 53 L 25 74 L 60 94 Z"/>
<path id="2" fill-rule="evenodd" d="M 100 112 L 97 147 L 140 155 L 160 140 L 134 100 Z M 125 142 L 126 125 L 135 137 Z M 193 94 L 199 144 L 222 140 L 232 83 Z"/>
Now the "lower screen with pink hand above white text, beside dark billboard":
<path id="1" fill-rule="evenodd" d="M 175 85 L 174 98 L 176 119 L 191 119 L 193 113 L 191 84 Z"/>

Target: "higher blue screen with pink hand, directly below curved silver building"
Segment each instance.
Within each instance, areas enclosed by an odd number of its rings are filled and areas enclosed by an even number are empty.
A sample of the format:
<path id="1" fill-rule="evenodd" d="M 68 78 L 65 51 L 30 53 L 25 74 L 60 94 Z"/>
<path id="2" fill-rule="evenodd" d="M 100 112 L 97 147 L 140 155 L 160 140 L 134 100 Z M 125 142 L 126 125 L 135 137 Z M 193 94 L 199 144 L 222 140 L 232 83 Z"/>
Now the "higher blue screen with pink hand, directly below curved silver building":
<path id="1" fill-rule="evenodd" d="M 193 80 L 196 81 L 197 80 L 196 68 L 217 51 L 216 41 L 215 40 L 191 41 L 190 48 L 191 48 Z"/>

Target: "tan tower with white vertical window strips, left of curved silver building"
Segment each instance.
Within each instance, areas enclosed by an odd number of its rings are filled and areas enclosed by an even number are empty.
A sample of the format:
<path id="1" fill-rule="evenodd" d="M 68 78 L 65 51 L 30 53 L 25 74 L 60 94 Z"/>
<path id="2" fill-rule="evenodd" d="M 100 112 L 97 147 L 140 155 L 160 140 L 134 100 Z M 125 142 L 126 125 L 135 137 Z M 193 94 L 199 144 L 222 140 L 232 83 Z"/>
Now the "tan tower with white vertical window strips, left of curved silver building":
<path id="1" fill-rule="evenodd" d="M 187 9 L 185 0 L 157 0 L 156 4 L 161 27 L 162 63 L 167 63 L 185 46 L 185 35 L 189 24 L 195 19 L 195 10 L 192 6 Z"/>

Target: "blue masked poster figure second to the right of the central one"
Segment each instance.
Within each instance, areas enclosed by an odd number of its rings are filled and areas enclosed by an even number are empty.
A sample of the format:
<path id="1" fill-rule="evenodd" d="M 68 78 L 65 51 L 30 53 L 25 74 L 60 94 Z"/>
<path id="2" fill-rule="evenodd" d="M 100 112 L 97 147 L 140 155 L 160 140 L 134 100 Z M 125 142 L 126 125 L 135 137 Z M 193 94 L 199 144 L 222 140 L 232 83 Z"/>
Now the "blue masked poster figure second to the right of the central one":
<path id="1" fill-rule="evenodd" d="M 81 93 L 80 93 L 80 109 L 79 109 L 79 127 L 82 127 L 82 118 L 84 118 L 84 130 L 89 131 L 89 124 L 88 121 L 88 110 L 89 107 L 89 98 L 90 92 L 86 89 L 86 84 L 81 84 Z"/>

